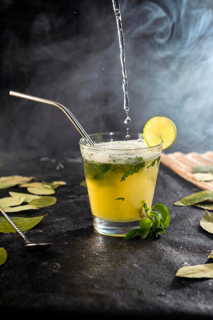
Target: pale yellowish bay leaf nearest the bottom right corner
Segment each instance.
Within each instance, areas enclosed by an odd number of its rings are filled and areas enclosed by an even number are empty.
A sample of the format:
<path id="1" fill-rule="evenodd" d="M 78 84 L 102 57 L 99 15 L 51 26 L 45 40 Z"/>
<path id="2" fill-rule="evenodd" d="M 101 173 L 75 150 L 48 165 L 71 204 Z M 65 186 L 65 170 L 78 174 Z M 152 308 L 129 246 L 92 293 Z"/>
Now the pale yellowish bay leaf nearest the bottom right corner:
<path id="1" fill-rule="evenodd" d="M 213 279 L 213 263 L 181 267 L 176 277 Z"/>

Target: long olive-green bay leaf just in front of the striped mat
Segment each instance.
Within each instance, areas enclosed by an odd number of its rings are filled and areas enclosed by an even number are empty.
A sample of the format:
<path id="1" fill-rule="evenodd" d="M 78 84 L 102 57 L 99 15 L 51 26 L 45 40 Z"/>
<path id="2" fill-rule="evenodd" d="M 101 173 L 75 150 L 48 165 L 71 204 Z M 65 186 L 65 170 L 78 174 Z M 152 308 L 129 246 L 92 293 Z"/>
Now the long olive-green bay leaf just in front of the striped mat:
<path id="1" fill-rule="evenodd" d="M 199 202 L 213 201 L 213 191 L 203 190 L 195 192 L 187 197 L 184 197 L 174 203 L 174 205 L 182 205 L 188 207 L 189 205 L 194 205 Z"/>

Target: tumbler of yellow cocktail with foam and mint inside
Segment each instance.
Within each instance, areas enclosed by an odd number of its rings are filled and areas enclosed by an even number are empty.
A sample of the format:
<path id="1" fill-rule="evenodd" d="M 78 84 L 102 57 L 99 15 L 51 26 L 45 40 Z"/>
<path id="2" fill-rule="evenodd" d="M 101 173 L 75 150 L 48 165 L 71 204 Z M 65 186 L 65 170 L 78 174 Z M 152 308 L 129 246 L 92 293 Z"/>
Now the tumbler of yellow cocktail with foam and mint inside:
<path id="1" fill-rule="evenodd" d="M 163 142 L 148 147 L 142 133 L 91 134 L 79 140 L 95 231 L 125 236 L 151 208 Z"/>

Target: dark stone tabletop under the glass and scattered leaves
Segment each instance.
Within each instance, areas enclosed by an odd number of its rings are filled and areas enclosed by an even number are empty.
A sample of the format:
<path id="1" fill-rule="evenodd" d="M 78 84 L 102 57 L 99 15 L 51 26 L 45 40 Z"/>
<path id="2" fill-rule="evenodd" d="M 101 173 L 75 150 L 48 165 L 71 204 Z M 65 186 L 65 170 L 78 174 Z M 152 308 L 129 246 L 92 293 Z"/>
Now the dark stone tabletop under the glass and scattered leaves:
<path id="1" fill-rule="evenodd" d="M 0 266 L 2 310 L 24 315 L 212 318 L 213 280 L 175 277 L 183 265 L 207 263 L 213 248 L 212 235 L 199 224 L 203 210 L 173 205 L 198 191 L 189 182 L 161 164 L 153 203 L 168 206 L 170 226 L 157 240 L 125 241 L 93 231 L 87 189 L 79 186 L 84 180 L 79 154 L 2 154 L 0 175 L 13 174 L 64 180 L 67 186 L 57 189 L 55 205 L 21 214 L 48 214 L 25 232 L 33 241 L 52 242 L 45 252 L 29 252 L 18 234 L 0 235 L 8 252 Z M 18 187 L 10 190 L 20 192 Z M 8 191 L 1 190 L 0 196 Z"/>

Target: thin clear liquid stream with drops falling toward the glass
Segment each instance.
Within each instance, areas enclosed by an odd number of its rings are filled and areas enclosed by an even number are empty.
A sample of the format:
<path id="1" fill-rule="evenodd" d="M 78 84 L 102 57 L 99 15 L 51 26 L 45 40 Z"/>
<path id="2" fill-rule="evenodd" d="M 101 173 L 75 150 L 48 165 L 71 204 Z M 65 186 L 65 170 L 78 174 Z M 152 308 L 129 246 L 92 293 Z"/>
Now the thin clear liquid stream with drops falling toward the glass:
<path id="1" fill-rule="evenodd" d="M 126 111 L 126 119 L 124 120 L 125 124 L 130 124 L 131 119 L 129 118 L 129 100 L 128 100 L 128 93 L 127 93 L 127 75 L 126 75 L 126 66 L 125 66 L 125 53 L 124 53 L 124 36 L 122 30 L 122 23 L 121 23 L 121 13 L 120 13 L 120 5 L 117 0 L 112 0 L 113 2 L 113 9 L 116 16 L 117 22 L 117 29 L 118 29 L 118 39 L 119 39 L 119 47 L 120 47 L 120 58 L 121 58 L 121 67 L 122 67 L 122 75 L 123 75 L 123 95 L 124 95 L 124 110 Z M 127 128 L 126 138 L 129 138 Z"/>

